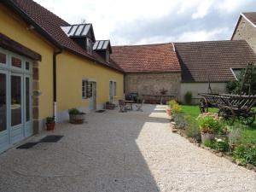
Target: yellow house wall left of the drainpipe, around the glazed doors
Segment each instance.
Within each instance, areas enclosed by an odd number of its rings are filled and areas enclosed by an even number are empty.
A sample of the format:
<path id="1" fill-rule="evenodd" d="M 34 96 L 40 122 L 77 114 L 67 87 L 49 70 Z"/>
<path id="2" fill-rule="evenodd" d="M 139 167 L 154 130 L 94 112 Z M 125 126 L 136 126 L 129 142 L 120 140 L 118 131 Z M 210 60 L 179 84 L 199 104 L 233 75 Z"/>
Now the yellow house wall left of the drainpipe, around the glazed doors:
<path id="1" fill-rule="evenodd" d="M 39 119 L 53 113 L 53 77 L 52 55 L 53 47 L 38 33 L 27 29 L 24 21 L 0 3 L 0 32 L 16 42 L 42 55 L 39 66 Z"/>

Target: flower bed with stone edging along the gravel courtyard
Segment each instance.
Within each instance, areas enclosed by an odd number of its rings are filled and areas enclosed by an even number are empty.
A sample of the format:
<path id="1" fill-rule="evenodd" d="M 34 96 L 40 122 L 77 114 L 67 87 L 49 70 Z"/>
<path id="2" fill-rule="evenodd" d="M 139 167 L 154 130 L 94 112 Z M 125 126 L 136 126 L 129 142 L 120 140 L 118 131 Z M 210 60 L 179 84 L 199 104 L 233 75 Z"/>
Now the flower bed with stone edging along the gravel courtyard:
<path id="1" fill-rule="evenodd" d="M 184 113 L 177 102 L 168 104 L 172 111 L 173 132 L 188 138 L 190 143 L 256 172 L 256 143 L 242 141 L 242 133 L 247 129 L 244 125 L 225 125 L 218 113 L 198 113 L 195 118 L 194 112 L 194 116 Z"/>

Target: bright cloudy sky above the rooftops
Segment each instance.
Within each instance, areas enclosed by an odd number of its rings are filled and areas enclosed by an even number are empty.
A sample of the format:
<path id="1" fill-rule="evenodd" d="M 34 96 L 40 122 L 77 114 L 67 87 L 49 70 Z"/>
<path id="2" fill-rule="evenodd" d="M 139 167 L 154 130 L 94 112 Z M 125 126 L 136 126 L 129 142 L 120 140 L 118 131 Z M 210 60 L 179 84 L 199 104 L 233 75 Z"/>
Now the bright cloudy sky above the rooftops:
<path id="1" fill-rule="evenodd" d="M 112 45 L 230 39 L 255 0 L 34 0 L 70 24 L 92 23 Z"/>

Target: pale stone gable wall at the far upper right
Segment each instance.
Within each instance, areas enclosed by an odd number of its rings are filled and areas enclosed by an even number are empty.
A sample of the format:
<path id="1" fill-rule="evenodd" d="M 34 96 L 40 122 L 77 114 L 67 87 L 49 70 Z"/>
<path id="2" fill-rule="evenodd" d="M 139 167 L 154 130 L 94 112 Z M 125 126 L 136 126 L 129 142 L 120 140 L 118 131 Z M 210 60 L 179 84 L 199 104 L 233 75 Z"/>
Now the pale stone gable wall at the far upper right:
<path id="1" fill-rule="evenodd" d="M 256 27 L 241 16 L 232 40 L 246 40 L 256 53 Z"/>

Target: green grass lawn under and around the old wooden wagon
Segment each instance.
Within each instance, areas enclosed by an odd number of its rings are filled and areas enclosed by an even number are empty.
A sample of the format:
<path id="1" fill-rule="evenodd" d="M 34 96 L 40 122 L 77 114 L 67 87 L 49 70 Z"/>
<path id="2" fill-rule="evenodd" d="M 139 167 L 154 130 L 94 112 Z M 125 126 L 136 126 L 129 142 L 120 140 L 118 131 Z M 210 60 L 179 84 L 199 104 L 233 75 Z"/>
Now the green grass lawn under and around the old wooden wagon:
<path id="1" fill-rule="evenodd" d="M 190 115 L 193 118 L 197 118 L 200 114 L 200 109 L 197 105 L 182 105 L 182 110 L 183 113 Z M 254 111 L 256 111 L 256 108 L 254 108 Z M 218 113 L 218 108 L 209 108 L 209 112 Z M 256 144 L 256 121 L 254 121 L 253 125 L 250 125 L 241 132 L 241 143 Z"/>

